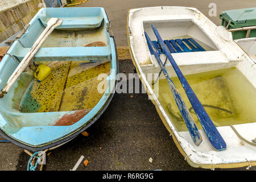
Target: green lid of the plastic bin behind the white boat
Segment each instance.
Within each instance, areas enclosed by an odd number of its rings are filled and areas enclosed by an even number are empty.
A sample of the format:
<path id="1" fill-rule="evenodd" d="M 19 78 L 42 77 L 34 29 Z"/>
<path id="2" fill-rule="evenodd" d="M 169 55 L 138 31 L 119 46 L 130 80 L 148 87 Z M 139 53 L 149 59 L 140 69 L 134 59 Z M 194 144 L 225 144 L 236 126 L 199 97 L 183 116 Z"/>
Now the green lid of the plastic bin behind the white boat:
<path id="1" fill-rule="evenodd" d="M 245 26 L 256 25 L 256 7 L 238 10 L 223 11 L 220 14 L 224 18 L 231 20 L 234 24 L 245 24 Z"/>

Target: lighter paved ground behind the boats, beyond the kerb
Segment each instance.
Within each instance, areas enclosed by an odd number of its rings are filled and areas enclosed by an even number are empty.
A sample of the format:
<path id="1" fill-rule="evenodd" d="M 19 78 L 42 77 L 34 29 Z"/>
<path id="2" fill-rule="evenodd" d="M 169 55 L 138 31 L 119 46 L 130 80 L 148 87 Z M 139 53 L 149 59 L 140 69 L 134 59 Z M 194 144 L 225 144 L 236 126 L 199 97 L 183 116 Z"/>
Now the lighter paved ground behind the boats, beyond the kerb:
<path id="1" fill-rule="evenodd" d="M 216 16 L 209 16 L 210 3 L 216 4 Z M 218 15 L 220 15 L 222 11 L 256 7 L 256 2 L 251 0 L 89 0 L 86 3 L 73 7 L 104 7 L 111 21 L 117 46 L 128 46 L 126 35 L 128 10 L 150 6 L 195 7 L 212 20 L 213 23 L 220 25 L 221 20 L 218 18 Z"/>

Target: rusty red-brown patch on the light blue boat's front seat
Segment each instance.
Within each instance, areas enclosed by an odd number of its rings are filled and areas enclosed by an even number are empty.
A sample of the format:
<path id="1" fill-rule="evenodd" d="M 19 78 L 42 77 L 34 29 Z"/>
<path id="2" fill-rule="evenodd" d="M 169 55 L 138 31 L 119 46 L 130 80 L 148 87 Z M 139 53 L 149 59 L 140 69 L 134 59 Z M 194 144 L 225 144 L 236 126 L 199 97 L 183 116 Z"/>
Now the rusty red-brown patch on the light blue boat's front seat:
<path id="1" fill-rule="evenodd" d="M 73 114 L 65 114 L 61 117 L 54 126 L 70 126 L 80 121 L 86 114 L 89 113 L 92 109 L 84 109 L 76 111 Z"/>

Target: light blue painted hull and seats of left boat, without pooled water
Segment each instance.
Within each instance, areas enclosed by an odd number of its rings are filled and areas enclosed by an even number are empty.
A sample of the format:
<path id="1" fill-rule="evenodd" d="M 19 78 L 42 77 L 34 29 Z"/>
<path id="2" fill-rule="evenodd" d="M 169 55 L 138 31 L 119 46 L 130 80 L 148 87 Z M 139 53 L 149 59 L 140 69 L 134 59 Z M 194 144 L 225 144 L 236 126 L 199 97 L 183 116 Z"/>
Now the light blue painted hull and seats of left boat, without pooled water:
<path id="1" fill-rule="evenodd" d="M 55 10 L 57 10 L 57 13 Z M 73 17 L 67 16 L 68 14 L 72 14 Z M 74 16 L 75 14 L 77 14 L 77 16 Z M 90 21 L 89 18 L 84 18 L 81 21 L 77 19 L 79 16 L 84 17 L 91 15 L 94 15 L 92 21 Z M 14 70 L 18 65 L 9 55 L 15 56 L 18 60 L 22 59 L 24 51 L 26 52 L 36 40 L 36 35 L 29 36 L 31 32 L 40 33 L 41 30 L 39 30 L 39 28 L 44 27 L 44 22 L 51 17 L 63 18 L 64 24 L 61 25 L 63 27 L 60 26 L 59 29 L 53 32 L 53 35 L 46 40 L 43 47 L 40 49 L 41 53 L 38 52 L 38 54 L 35 55 L 34 61 L 42 61 L 41 63 L 44 63 L 43 61 L 56 61 L 56 63 L 58 63 L 57 61 L 80 60 L 90 60 L 88 63 L 97 63 L 97 61 L 102 62 L 104 60 L 109 61 L 110 71 L 106 78 L 108 88 L 102 93 L 102 97 L 96 105 L 87 111 L 85 109 L 84 111 L 45 111 L 42 113 L 22 113 L 12 108 L 8 110 L 9 105 L 11 105 L 9 103 L 12 103 L 11 99 L 15 96 L 14 91 L 10 90 L 10 93 L 7 93 L 6 96 L 0 100 L 0 102 L 2 102 L 1 105 L 6 105 L 6 108 L 2 107 L 0 113 L 0 135 L 17 146 L 29 151 L 42 151 L 59 147 L 92 126 L 109 106 L 117 84 L 117 49 L 114 36 L 109 34 L 109 20 L 105 10 L 100 7 L 72 9 L 50 8 L 39 10 L 38 14 L 31 20 L 27 32 L 20 38 L 20 41 L 14 42 L 7 52 L 8 55 L 3 57 L 0 63 L 0 69 L 2 71 L 0 75 L 1 87 L 5 85 L 9 72 Z M 85 22 L 83 23 L 83 21 Z M 72 26 L 71 22 L 75 22 L 75 25 L 73 24 Z M 67 36 L 63 36 L 61 31 L 67 31 Z M 59 32 L 61 33 L 61 37 L 56 39 L 55 35 Z M 71 32 L 71 34 L 69 32 Z M 77 32 L 79 38 L 73 41 L 72 32 Z M 91 38 L 85 41 L 84 36 L 87 36 L 86 32 L 89 32 Z M 69 34 L 71 36 L 69 36 Z M 63 39 L 63 41 L 61 39 Z M 56 42 L 58 40 L 59 42 Z M 103 47 L 97 47 L 100 40 L 104 42 L 104 44 L 100 45 Z M 23 42 L 23 45 L 20 45 L 20 42 Z M 51 45 L 51 43 L 53 43 L 53 45 Z M 56 56 L 51 57 L 51 55 Z M 81 65 L 84 64 L 87 65 L 87 62 L 81 62 Z M 42 121 L 45 120 L 46 123 L 40 125 L 40 119 L 42 119 Z"/>

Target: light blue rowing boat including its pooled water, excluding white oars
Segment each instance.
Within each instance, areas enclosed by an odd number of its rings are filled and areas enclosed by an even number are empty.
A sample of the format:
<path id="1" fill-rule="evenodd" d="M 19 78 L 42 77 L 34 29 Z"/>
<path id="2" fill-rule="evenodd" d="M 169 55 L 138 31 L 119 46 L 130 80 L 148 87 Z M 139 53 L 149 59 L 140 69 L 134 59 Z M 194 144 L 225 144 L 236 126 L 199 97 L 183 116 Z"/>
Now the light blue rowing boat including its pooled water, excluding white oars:
<path id="1" fill-rule="evenodd" d="M 3 92 L 51 18 L 61 20 L 60 26 Z M 0 63 L 0 134 L 30 151 L 68 142 L 104 113 L 117 73 L 114 36 L 103 8 L 40 9 Z"/>

